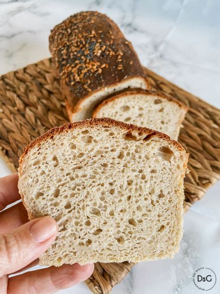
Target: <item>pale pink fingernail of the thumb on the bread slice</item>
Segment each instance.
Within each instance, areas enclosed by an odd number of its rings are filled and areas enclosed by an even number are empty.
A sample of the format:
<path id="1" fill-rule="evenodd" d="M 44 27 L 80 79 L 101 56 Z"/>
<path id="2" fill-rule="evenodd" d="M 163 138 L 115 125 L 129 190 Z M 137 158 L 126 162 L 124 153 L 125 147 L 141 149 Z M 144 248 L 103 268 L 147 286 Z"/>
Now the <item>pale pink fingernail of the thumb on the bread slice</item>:
<path id="1" fill-rule="evenodd" d="M 42 243 L 53 236 L 56 232 L 54 220 L 45 217 L 36 221 L 30 227 L 30 234 L 37 243 Z"/>

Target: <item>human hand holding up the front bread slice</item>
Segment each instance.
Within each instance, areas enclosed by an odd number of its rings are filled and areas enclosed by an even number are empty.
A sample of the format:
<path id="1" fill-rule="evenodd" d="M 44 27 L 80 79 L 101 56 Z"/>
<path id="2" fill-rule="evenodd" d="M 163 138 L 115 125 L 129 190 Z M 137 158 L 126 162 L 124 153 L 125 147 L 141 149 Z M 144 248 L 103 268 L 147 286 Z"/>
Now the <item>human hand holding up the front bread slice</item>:
<path id="1" fill-rule="evenodd" d="M 0 211 L 21 197 L 16 173 L 0 178 Z M 94 265 L 63 265 L 8 277 L 38 264 L 58 231 L 51 217 L 28 221 L 22 202 L 0 212 L 0 294 L 49 294 L 86 280 Z"/>

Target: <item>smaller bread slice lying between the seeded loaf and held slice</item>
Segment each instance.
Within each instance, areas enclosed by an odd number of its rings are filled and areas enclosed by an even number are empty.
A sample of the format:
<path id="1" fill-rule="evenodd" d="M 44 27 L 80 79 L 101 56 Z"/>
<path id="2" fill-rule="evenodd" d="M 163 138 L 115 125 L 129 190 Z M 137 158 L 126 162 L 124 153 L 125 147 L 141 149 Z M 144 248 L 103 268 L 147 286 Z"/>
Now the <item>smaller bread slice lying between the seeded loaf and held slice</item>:
<path id="1" fill-rule="evenodd" d="M 168 96 L 150 91 L 128 91 L 102 101 L 93 117 L 108 117 L 145 126 L 177 140 L 187 107 Z"/>

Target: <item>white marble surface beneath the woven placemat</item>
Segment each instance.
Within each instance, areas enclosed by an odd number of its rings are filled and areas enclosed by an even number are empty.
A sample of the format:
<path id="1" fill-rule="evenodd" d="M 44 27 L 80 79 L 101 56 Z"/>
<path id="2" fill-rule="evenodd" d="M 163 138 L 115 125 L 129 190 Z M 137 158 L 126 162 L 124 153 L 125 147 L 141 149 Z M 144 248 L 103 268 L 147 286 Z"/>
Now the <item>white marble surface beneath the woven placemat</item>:
<path id="1" fill-rule="evenodd" d="M 0 0 L 0 73 L 48 57 L 50 29 L 80 10 L 107 13 L 145 66 L 220 107 L 218 0 Z M 7 173 L 0 162 L 0 176 Z M 201 293 L 192 280 L 200 267 L 217 275 L 208 293 L 220 293 L 220 183 L 185 215 L 176 257 L 140 263 L 112 293 Z M 90 292 L 81 284 L 59 293 Z"/>

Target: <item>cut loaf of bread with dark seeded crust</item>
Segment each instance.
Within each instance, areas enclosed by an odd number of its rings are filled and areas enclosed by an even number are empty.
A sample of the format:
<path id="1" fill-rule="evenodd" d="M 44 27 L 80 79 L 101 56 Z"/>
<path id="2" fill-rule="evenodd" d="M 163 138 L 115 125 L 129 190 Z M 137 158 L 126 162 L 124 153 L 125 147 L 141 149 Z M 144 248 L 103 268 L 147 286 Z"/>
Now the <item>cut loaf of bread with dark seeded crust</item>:
<path id="1" fill-rule="evenodd" d="M 90 118 L 94 105 L 111 93 L 149 88 L 132 44 L 104 14 L 70 16 L 51 31 L 49 49 L 72 122 Z"/>

